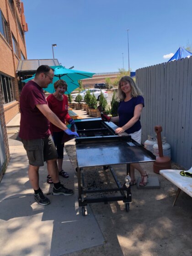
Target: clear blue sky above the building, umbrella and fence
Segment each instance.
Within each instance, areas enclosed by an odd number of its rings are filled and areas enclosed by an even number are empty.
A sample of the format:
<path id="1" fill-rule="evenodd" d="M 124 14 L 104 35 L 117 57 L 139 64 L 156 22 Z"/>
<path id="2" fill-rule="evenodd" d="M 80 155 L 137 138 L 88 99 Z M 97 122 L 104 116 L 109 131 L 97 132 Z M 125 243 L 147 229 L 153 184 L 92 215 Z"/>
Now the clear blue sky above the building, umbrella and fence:
<path id="1" fill-rule="evenodd" d="M 192 0 L 22 0 L 27 59 L 53 59 L 95 73 L 168 61 L 192 45 Z M 127 29 L 129 32 L 127 34 Z M 123 53 L 123 54 L 122 54 Z"/>

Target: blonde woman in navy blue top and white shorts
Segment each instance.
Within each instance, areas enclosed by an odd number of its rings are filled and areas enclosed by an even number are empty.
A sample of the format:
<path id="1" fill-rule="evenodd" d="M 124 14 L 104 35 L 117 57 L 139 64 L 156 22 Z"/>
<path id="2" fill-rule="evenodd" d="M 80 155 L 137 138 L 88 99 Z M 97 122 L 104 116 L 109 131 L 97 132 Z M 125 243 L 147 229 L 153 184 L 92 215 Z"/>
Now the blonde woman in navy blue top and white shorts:
<path id="1" fill-rule="evenodd" d="M 108 122 L 119 122 L 120 127 L 115 130 L 116 133 L 126 132 L 139 144 L 141 144 L 140 115 L 144 107 L 144 98 L 141 95 L 142 92 L 139 90 L 134 80 L 129 76 L 123 76 L 119 81 L 117 89 L 117 98 L 120 100 L 118 116 L 110 118 L 104 115 L 105 120 Z M 136 185 L 134 169 L 137 169 L 141 174 L 139 186 L 146 186 L 148 174 L 139 163 L 131 164 L 131 185 Z"/>

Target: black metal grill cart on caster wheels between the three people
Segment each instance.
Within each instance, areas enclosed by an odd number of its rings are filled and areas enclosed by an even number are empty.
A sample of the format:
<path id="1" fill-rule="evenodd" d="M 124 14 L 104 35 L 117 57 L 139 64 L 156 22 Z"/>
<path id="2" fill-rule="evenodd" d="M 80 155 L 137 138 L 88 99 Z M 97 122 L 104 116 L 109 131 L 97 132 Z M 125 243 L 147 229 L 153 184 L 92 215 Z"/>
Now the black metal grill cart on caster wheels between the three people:
<path id="1" fill-rule="evenodd" d="M 131 188 L 128 182 L 121 185 L 112 165 L 125 164 L 126 176 L 130 175 L 130 164 L 155 161 L 155 155 L 134 141 L 127 133 L 116 134 L 117 126 L 112 122 L 104 122 L 101 118 L 75 120 L 75 127 L 80 138 L 75 139 L 77 157 L 78 203 L 82 215 L 86 215 L 88 203 L 107 204 L 123 201 L 125 210 L 129 211 L 132 202 Z M 109 170 L 116 187 L 105 189 L 85 189 L 83 168 L 103 166 Z M 88 197 L 90 193 L 119 192 L 118 196 Z"/>

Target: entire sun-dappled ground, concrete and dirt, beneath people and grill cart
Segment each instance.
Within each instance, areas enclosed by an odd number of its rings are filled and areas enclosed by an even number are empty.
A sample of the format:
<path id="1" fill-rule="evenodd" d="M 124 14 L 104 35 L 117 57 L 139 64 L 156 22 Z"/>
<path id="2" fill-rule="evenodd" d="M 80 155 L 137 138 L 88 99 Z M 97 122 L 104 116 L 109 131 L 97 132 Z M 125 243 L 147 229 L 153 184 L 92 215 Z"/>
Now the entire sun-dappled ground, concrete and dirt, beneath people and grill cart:
<path id="1" fill-rule="evenodd" d="M 34 202 L 32 196 L 27 157 L 21 142 L 16 140 L 16 134 L 9 134 L 9 137 L 9 144 L 12 143 L 11 162 L 0 183 L 0 255 L 192 255 L 192 198 L 181 192 L 172 207 L 177 188 L 153 172 L 153 163 L 141 165 L 150 178 L 158 177 L 160 188 L 137 189 L 137 186 L 132 186 L 132 203 L 128 213 L 123 201 L 107 205 L 92 203 L 88 206 L 88 216 L 83 217 L 76 200 L 74 142 L 66 144 L 68 155 L 64 154 L 64 168 L 67 168 L 70 177 L 62 181 L 67 187 L 75 189 L 75 195 L 50 195 L 52 187 L 46 183 L 46 168 L 40 168 L 41 186 L 51 200 L 50 205 L 42 207 Z M 123 184 L 126 166 L 113 167 Z M 176 164 L 172 163 L 172 167 L 176 169 Z M 91 169 L 89 181 L 99 182 L 98 175 L 98 171 Z M 136 171 L 135 175 L 137 180 L 139 172 Z"/>

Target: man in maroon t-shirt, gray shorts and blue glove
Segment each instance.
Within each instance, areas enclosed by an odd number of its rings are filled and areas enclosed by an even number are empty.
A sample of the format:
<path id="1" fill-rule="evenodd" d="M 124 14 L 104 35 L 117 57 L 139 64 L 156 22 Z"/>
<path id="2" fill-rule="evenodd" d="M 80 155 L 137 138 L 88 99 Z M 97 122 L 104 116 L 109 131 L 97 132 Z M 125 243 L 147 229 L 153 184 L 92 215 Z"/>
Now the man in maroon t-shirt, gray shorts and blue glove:
<path id="1" fill-rule="evenodd" d="M 21 122 L 19 136 L 27 151 L 29 160 L 28 176 L 34 189 L 37 203 L 47 205 L 49 199 L 44 196 L 39 187 L 39 166 L 47 161 L 48 173 L 53 180 L 53 195 L 69 196 L 73 190 L 64 187 L 59 181 L 57 166 L 57 152 L 50 136 L 49 124 L 64 130 L 68 135 L 79 136 L 71 132 L 67 126 L 48 107 L 43 88 L 53 81 L 54 70 L 47 65 L 41 65 L 36 71 L 34 79 L 30 80 L 22 89 L 20 96 Z M 50 122 L 50 123 L 49 123 Z"/>

